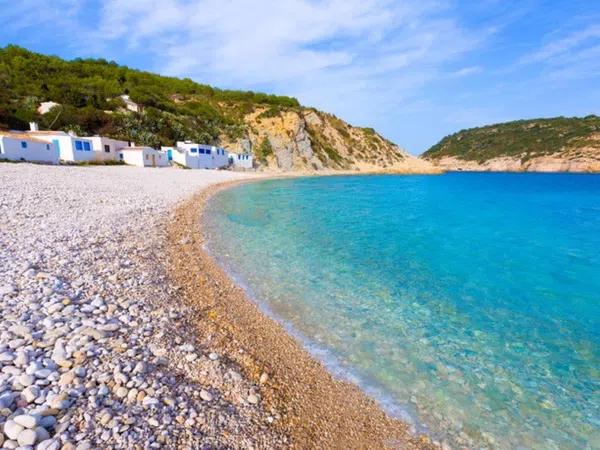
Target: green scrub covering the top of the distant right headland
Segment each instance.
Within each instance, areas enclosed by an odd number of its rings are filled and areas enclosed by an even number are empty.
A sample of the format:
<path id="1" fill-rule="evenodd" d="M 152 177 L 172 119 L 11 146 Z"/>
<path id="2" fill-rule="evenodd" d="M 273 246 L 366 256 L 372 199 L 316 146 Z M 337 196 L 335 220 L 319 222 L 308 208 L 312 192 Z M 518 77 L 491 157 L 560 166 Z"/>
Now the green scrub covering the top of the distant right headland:
<path id="1" fill-rule="evenodd" d="M 423 157 L 445 156 L 484 162 L 509 156 L 522 160 L 576 150 L 592 142 L 592 133 L 600 132 L 600 117 L 556 117 L 518 120 L 480 128 L 461 130 L 431 147 Z"/>

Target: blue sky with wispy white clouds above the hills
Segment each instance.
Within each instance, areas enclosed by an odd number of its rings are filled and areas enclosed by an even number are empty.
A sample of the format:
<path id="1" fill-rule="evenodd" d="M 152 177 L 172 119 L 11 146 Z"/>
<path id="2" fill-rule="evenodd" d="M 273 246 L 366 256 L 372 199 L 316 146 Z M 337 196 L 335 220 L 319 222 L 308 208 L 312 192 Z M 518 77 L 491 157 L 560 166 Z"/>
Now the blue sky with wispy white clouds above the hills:
<path id="1" fill-rule="evenodd" d="M 600 0 L 0 0 L 0 46 L 290 95 L 413 154 L 600 114 Z"/>

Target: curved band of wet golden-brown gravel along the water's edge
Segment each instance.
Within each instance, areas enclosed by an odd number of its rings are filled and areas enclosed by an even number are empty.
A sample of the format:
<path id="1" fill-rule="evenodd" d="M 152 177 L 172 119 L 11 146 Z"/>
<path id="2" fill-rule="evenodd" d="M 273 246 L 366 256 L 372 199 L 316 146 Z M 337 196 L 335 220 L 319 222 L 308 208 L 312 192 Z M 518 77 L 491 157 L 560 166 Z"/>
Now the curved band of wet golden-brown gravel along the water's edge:
<path id="1" fill-rule="evenodd" d="M 204 210 L 214 194 L 277 177 L 213 185 L 178 205 L 167 225 L 172 281 L 181 288 L 185 306 L 196 311 L 198 336 L 210 336 L 211 345 L 260 386 L 259 401 L 274 411 L 273 424 L 293 448 L 435 448 L 428 437 L 389 417 L 357 385 L 335 379 L 203 248 Z"/>

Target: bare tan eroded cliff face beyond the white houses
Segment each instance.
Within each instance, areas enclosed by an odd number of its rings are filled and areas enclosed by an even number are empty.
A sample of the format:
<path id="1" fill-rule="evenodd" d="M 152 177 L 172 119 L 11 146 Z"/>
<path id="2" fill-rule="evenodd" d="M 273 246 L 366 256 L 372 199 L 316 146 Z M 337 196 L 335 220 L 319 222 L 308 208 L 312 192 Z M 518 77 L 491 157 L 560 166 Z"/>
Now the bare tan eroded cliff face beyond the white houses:
<path id="1" fill-rule="evenodd" d="M 275 171 L 435 173 L 430 162 L 416 158 L 373 129 L 353 127 L 314 109 L 273 111 L 257 108 L 244 116 L 246 135 L 221 144 L 251 151 L 259 169 Z"/>

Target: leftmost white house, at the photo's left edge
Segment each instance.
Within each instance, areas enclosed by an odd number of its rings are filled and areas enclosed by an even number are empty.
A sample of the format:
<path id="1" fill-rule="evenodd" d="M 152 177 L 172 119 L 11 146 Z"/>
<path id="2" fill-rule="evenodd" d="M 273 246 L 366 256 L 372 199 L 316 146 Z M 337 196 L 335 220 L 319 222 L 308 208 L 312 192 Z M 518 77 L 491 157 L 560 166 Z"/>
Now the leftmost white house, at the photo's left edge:
<path id="1" fill-rule="evenodd" d="M 58 150 L 53 143 L 24 132 L 0 131 L 0 159 L 58 164 Z"/>

